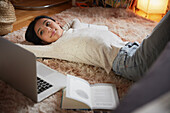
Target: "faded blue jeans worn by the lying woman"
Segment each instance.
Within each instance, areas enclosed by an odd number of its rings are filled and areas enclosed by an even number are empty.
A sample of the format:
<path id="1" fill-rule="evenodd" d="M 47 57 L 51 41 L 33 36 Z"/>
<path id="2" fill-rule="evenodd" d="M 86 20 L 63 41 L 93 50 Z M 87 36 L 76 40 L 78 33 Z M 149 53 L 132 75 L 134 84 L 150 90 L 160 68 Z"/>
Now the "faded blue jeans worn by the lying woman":
<path id="1" fill-rule="evenodd" d="M 141 44 L 127 43 L 113 61 L 113 71 L 131 80 L 140 79 L 170 41 L 170 11 Z"/>

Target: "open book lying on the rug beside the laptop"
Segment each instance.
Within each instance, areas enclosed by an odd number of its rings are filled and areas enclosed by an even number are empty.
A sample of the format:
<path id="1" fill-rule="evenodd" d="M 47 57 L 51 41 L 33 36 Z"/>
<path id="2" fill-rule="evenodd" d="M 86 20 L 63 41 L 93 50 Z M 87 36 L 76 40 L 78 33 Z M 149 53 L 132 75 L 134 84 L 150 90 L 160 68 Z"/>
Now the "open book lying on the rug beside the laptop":
<path id="1" fill-rule="evenodd" d="M 118 95 L 113 84 L 90 85 L 86 80 L 67 75 L 67 85 L 63 90 L 62 109 L 107 109 L 118 105 Z"/>

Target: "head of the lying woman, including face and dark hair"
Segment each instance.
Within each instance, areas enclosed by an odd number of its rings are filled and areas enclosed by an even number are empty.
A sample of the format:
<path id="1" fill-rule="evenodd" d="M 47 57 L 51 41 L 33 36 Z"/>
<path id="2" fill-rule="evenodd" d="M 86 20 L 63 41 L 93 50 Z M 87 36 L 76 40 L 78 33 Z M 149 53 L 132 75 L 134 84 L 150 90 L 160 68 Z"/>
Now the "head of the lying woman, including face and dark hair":
<path id="1" fill-rule="evenodd" d="M 38 16 L 30 23 L 25 38 L 34 44 L 43 45 L 55 42 L 62 33 L 63 29 L 56 20 L 48 16 Z"/>

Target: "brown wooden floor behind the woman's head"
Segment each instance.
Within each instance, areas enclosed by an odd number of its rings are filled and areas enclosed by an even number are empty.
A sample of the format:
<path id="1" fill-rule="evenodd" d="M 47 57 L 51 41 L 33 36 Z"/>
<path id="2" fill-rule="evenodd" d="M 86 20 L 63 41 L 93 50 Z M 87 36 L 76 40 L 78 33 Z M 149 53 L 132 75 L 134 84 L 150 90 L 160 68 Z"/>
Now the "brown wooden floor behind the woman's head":
<path id="1" fill-rule="evenodd" d="M 27 0 L 26 0 L 27 1 Z M 37 1 L 37 3 L 35 3 Z M 45 0 L 45 1 L 50 1 L 50 0 Z M 57 0 L 56 0 L 57 1 Z M 40 3 L 41 2 L 41 3 Z M 26 3 L 27 4 L 27 3 Z M 32 6 L 35 6 L 35 4 L 43 4 L 43 0 L 34 0 Z M 23 5 L 23 4 L 22 4 Z M 31 5 L 31 4 L 30 4 Z M 16 15 L 16 22 L 13 24 L 13 31 L 19 30 L 25 26 L 28 26 L 29 23 L 39 15 L 47 15 L 47 16 L 52 16 L 56 13 L 60 13 L 61 11 L 64 11 L 66 9 L 71 8 L 71 1 L 66 2 L 54 7 L 50 8 L 45 8 L 45 9 L 40 9 L 40 10 L 21 10 L 21 9 L 16 9 L 15 8 L 15 15 Z"/>

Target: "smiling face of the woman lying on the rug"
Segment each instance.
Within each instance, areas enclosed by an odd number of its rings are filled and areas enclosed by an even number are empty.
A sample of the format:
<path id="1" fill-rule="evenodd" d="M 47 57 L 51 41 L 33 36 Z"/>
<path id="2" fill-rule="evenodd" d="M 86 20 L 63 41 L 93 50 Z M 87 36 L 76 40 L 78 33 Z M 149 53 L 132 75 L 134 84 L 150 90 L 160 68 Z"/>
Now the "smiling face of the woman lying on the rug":
<path id="1" fill-rule="evenodd" d="M 48 18 L 39 19 L 35 24 L 34 30 L 44 43 L 55 42 L 63 34 L 63 29 L 60 27 L 59 22 L 54 22 Z"/>

